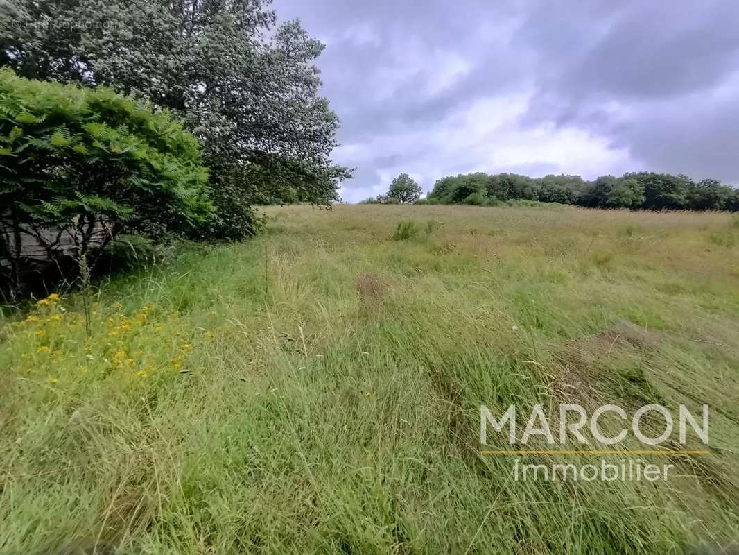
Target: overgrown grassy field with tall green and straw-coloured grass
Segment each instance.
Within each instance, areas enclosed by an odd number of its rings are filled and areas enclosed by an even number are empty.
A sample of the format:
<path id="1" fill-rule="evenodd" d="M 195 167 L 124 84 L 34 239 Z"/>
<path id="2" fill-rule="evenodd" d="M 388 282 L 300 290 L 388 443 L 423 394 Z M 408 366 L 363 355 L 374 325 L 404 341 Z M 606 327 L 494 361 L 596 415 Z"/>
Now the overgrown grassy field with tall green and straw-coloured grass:
<path id="1" fill-rule="evenodd" d="M 268 215 L 246 243 L 185 252 L 92 298 L 5 310 L 0 553 L 735 545 L 736 218 Z M 666 482 L 515 482 L 514 457 L 480 454 L 480 404 L 564 402 L 708 403 L 711 453 L 670 456 Z"/>

